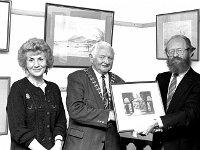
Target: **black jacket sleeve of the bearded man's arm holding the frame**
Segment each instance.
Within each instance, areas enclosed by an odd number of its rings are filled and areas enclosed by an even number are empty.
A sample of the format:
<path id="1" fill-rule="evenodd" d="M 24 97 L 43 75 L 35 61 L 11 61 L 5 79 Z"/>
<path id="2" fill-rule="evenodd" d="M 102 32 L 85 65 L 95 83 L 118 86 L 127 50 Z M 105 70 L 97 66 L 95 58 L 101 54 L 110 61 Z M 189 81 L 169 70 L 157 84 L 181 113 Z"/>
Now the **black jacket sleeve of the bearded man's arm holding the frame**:
<path id="1" fill-rule="evenodd" d="M 200 118 L 200 82 L 197 80 L 186 93 L 186 98 L 176 112 L 162 116 L 164 129 L 194 126 Z M 183 97 L 180 96 L 180 101 Z"/>

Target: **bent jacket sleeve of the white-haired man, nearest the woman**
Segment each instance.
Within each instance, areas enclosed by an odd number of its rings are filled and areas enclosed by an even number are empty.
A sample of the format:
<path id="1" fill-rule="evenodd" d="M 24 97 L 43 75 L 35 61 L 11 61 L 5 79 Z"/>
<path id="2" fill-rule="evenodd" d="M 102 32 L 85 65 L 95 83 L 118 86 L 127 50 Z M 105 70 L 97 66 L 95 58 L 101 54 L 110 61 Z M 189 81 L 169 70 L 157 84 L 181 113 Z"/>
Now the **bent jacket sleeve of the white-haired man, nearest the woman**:
<path id="1" fill-rule="evenodd" d="M 93 100 L 89 100 L 85 96 L 85 93 L 88 93 L 86 90 L 91 90 L 89 85 L 85 83 L 89 82 L 85 78 L 87 77 L 80 74 L 70 74 L 68 76 L 66 103 L 69 116 L 80 124 L 107 127 L 109 110 L 98 108 L 95 105 L 95 98 L 97 97 L 94 96 L 92 91 L 89 92 L 90 96 L 88 97 L 93 97 Z"/>

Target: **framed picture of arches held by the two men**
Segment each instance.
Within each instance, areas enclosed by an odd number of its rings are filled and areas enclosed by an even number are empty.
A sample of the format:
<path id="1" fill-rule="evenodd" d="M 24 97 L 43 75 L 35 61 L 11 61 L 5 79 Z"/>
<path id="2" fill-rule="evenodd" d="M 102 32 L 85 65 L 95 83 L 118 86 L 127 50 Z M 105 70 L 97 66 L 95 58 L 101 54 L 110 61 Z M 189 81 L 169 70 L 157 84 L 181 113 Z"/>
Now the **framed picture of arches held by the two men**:
<path id="1" fill-rule="evenodd" d="M 148 120 L 165 115 L 157 81 L 112 84 L 118 132 L 138 131 Z"/>

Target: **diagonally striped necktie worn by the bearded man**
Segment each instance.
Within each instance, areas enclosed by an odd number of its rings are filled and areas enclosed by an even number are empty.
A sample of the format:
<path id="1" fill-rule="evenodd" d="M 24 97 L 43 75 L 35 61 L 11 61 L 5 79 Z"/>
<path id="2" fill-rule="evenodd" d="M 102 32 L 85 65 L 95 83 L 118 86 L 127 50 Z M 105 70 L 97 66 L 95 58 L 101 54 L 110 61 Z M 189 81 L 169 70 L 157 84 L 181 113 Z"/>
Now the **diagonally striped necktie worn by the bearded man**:
<path id="1" fill-rule="evenodd" d="M 172 96 L 174 95 L 174 92 L 176 90 L 177 76 L 178 76 L 178 74 L 173 74 L 173 79 L 172 79 L 172 81 L 170 83 L 170 86 L 169 86 L 168 95 L 167 95 L 167 107 L 166 107 L 166 110 L 168 109 L 169 104 L 170 104 L 170 102 L 172 100 Z"/>

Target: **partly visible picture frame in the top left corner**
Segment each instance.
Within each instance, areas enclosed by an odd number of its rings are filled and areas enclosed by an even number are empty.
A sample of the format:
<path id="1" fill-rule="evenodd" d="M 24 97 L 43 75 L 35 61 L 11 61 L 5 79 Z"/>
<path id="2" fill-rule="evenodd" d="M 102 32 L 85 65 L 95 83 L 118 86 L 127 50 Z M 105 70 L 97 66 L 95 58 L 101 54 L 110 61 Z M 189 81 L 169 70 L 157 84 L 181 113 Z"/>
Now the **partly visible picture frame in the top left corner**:
<path id="1" fill-rule="evenodd" d="M 0 53 L 9 52 L 11 1 L 0 0 Z"/>

